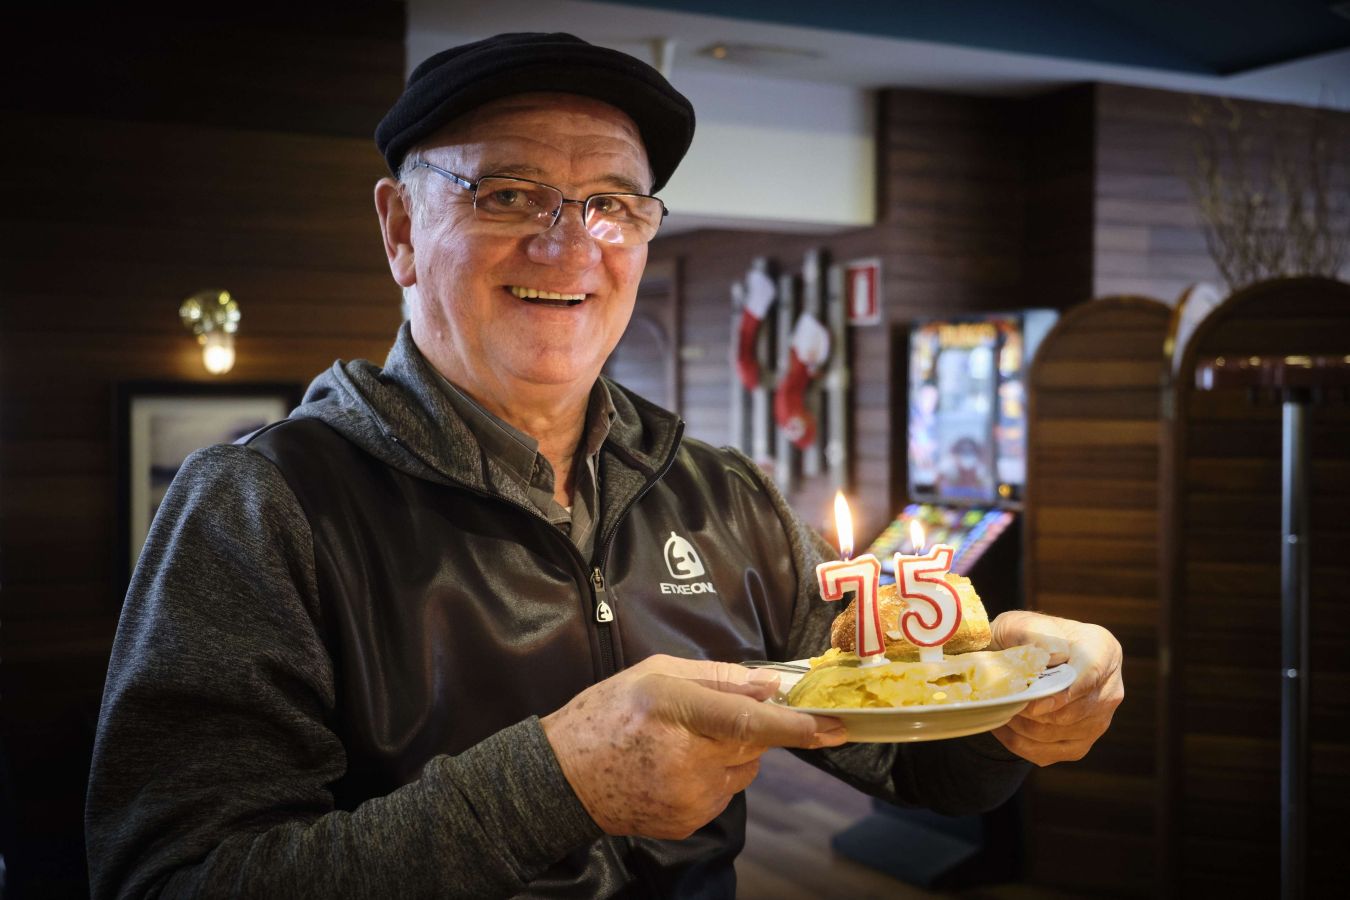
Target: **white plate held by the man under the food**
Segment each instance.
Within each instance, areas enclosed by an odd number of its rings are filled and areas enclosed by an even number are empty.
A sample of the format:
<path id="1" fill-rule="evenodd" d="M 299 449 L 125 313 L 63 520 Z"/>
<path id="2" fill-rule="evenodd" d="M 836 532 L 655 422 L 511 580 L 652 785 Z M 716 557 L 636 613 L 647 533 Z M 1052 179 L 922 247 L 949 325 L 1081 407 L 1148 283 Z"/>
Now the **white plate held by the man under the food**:
<path id="1" fill-rule="evenodd" d="M 796 664 L 809 665 L 806 660 Z M 779 695 L 770 703 L 783 703 L 787 691 L 806 672 L 779 672 L 782 684 Z M 991 700 L 969 700 L 944 706 L 906 706 L 891 710 L 810 710 L 790 707 L 798 712 L 814 712 L 842 719 L 848 729 L 848 739 L 861 743 L 895 743 L 900 741 L 942 741 L 967 734 L 992 731 L 1022 711 L 1031 700 L 1058 694 L 1073 684 L 1077 672 L 1068 663 L 1053 665 L 1041 673 L 1027 690 Z M 786 704 L 784 704 L 786 706 Z"/>

